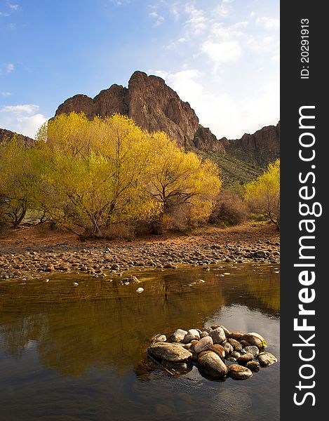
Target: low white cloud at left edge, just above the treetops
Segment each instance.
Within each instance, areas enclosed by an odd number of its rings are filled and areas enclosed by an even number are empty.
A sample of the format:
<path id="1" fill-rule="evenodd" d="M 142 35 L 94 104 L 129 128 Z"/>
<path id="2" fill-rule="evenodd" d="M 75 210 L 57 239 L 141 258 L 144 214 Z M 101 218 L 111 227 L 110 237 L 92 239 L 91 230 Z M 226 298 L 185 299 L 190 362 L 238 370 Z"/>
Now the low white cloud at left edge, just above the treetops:
<path id="1" fill-rule="evenodd" d="M 34 138 L 39 127 L 47 121 L 39 105 L 6 105 L 0 108 L 0 127 Z"/>

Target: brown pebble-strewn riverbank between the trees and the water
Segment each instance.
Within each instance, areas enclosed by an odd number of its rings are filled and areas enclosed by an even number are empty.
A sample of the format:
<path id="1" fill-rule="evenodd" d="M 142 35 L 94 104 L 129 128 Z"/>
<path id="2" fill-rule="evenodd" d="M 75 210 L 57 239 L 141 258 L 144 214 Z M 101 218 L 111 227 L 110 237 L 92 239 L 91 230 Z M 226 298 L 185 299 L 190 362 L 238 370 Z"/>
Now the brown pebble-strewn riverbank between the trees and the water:
<path id="1" fill-rule="evenodd" d="M 42 224 L 22 227 L 0 238 L 0 279 L 32 279 L 56 271 L 124 276 L 133 268 L 202 265 L 207 270 L 208 265 L 221 262 L 278 263 L 279 241 L 275 227 L 264 223 L 206 227 L 188 234 L 143 236 L 134 241 L 83 242 Z"/>

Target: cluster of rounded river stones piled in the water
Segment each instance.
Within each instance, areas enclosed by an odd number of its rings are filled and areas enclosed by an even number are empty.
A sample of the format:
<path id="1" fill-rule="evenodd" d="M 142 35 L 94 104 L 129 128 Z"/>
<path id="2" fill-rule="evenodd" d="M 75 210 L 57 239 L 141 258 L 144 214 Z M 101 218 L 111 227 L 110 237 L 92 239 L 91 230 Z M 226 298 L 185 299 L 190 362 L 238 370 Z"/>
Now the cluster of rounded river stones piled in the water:
<path id="1" fill-rule="evenodd" d="M 185 370 L 191 364 L 207 377 L 246 380 L 253 373 L 278 361 L 265 352 L 267 343 L 255 332 L 230 332 L 224 326 L 177 329 L 173 335 L 156 335 L 147 354 L 166 370 Z"/>

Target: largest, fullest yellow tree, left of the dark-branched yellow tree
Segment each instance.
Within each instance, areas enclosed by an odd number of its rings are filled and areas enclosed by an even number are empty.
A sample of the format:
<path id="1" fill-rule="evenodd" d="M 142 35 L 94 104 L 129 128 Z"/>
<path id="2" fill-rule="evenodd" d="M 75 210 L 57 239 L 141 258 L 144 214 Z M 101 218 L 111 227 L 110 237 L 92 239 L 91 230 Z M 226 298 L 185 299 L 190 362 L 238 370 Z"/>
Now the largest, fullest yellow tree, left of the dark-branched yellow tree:
<path id="1" fill-rule="evenodd" d="M 103 236 L 110 224 L 149 213 L 153 202 L 139 182 L 146 136 L 119 114 L 93 121 L 62 114 L 49 121 L 43 207 L 51 218 L 80 236 Z"/>

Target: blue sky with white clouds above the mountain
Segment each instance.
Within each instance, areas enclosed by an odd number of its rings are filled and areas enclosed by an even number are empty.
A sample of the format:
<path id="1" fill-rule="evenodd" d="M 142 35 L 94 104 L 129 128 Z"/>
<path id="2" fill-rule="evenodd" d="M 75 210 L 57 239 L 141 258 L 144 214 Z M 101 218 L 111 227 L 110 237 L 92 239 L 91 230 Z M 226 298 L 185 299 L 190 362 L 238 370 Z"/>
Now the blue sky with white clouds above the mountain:
<path id="1" fill-rule="evenodd" d="M 279 0 L 0 0 L 0 128 L 34 137 L 67 98 L 135 70 L 241 138 L 279 120 Z"/>

